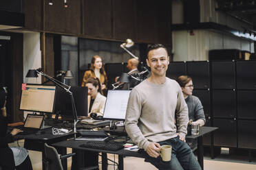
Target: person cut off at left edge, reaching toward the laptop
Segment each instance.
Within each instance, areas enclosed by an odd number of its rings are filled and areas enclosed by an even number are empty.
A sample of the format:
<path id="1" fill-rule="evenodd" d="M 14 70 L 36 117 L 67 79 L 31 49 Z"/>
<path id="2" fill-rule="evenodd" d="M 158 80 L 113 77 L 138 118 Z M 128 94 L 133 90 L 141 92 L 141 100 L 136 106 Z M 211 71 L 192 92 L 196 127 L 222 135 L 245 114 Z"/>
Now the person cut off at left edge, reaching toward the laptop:
<path id="1" fill-rule="evenodd" d="M 14 142 L 13 136 L 21 132 L 21 130 L 13 129 L 7 132 L 6 118 L 6 93 L 0 90 L 0 167 L 6 169 L 32 169 L 28 151 L 23 147 L 9 147 L 8 143 Z"/>

